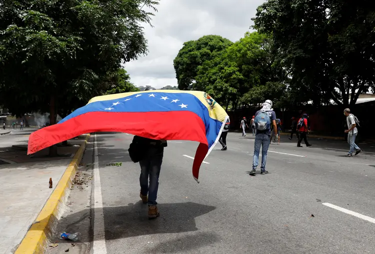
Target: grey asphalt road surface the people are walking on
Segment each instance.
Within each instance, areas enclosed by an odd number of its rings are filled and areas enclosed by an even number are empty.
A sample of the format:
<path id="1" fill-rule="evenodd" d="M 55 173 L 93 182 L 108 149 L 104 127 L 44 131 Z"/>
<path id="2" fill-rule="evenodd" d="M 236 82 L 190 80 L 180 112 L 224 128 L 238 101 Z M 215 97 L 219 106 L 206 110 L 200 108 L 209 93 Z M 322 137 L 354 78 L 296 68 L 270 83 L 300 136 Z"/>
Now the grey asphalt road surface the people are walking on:
<path id="1" fill-rule="evenodd" d="M 199 184 L 192 159 L 183 156 L 193 157 L 198 144 L 168 141 L 157 199 L 161 216 L 148 220 L 139 165 L 127 154 L 132 136 L 96 134 L 96 156 L 85 155 L 98 161 L 87 197 L 92 207 L 71 213 L 70 225 L 91 214 L 93 236 L 85 241 L 96 246 L 85 244 L 93 254 L 375 253 L 374 144 L 360 143 L 364 152 L 345 158 L 342 141 L 311 139 L 313 147 L 297 148 L 281 138 L 270 145 L 269 174 L 252 177 L 253 137 L 229 133 L 228 150 L 214 148 Z M 116 162 L 122 165 L 108 166 Z"/>

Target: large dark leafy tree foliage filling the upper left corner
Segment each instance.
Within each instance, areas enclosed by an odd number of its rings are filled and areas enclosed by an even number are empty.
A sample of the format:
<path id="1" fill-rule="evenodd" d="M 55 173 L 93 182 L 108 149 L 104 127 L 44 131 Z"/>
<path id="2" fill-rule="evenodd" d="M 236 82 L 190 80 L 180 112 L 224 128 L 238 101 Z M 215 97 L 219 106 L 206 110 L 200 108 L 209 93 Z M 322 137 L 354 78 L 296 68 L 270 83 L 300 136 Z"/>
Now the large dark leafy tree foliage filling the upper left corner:
<path id="1" fill-rule="evenodd" d="M 153 14 L 142 7 L 156 10 L 157 3 L 2 1 L 2 106 L 13 114 L 50 111 L 52 124 L 57 113 L 65 115 L 110 89 L 110 82 L 105 82 L 113 77 L 110 73 L 116 73 L 122 62 L 147 52 L 140 22 L 150 23 Z"/>

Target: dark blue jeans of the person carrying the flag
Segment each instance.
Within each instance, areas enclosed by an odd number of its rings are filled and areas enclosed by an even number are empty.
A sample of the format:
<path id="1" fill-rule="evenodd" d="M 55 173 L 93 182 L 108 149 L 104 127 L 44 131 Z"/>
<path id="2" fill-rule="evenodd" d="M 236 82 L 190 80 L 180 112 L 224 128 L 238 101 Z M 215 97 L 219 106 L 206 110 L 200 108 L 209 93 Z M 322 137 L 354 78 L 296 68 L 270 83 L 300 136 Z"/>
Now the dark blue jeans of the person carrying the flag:
<path id="1" fill-rule="evenodd" d="M 159 187 L 159 175 L 163 159 L 163 147 L 150 147 L 146 150 L 144 159 L 139 161 L 140 165 L 140 193 L 148 194 L 148 205 L 157 205 L 157 189 Z M 148 184 L 149 178 L 149 184 Z"/>

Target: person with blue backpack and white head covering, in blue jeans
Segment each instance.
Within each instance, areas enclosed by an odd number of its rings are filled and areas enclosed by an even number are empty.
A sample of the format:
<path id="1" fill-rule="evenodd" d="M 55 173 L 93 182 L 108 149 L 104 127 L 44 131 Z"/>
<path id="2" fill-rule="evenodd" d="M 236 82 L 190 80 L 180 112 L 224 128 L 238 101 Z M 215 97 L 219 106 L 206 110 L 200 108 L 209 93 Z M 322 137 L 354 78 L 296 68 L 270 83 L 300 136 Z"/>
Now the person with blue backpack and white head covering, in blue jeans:
<path id="1" fill-rule="evenodd" d="M 273 129 L 273 133 L 277 135 L 277 126 L 276 126 L 276 114 L 272 109 L 272 101 L 266 100 L 263 103 L 262 109 L 258 110 L 255 113 L 255 142 L 254 142 L 254 155 L 252 157 L 252 170 L 250 171 L 249 175 L 254 176 L 256 175 L 256 168 L 258 166 L 259 161 L 259 152 L 261 146 L 261 166 L 260 166 L 260 174 L 268 174 L 268 171 L 265 170 L 265 163 L 267 162 L 267 151 L 270 143 L 271 133 Z M 256 116 L 261 113 L 265 112 L 266 115 L 269 117 L 269 127 L 264 130 L 260 130 L 260 123 L 256 121 Z"/>

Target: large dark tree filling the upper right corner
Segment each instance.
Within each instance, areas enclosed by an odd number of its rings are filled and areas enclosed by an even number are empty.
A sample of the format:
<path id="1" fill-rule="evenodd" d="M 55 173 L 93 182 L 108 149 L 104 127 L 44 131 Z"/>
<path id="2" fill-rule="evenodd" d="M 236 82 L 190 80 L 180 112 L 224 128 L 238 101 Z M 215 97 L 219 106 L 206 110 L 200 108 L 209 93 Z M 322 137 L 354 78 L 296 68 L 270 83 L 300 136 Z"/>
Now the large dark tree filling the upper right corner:
<path id="1" fill-rule="evenodd" d="M 332 99 L 344 106 L 374 88 L 374 20 L 366 0 L 268 0 L 257 9 L 255 27 L 273 35 L 294 93 L 316 105 Z"/>

